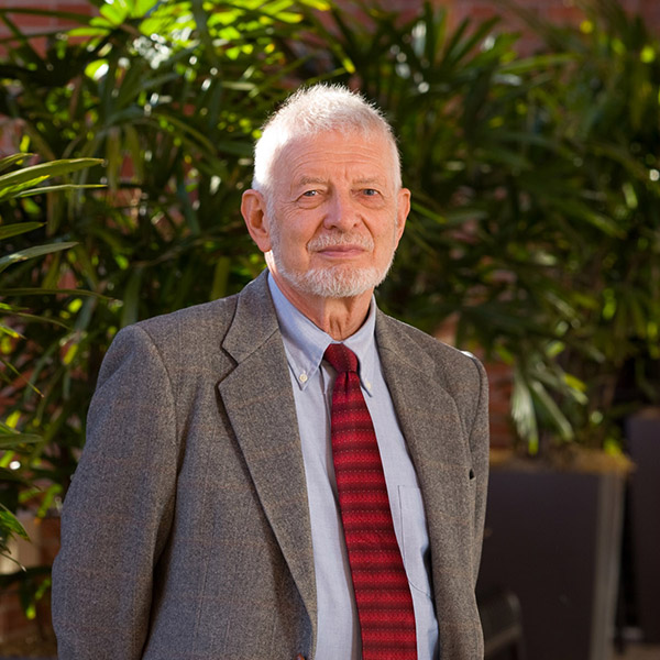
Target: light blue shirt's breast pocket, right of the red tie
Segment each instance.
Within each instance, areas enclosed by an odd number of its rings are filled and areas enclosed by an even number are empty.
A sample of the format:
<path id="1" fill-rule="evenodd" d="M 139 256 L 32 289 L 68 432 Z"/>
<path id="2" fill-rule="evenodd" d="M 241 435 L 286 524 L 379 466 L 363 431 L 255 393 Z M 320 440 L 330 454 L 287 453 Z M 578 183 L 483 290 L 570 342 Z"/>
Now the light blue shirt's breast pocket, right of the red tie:
<path id="1" fill-rule="evenodd" d="M 398 486 L 402 553 L 410 586 L 431 597 L 429 535 L 421 491 Z"/>

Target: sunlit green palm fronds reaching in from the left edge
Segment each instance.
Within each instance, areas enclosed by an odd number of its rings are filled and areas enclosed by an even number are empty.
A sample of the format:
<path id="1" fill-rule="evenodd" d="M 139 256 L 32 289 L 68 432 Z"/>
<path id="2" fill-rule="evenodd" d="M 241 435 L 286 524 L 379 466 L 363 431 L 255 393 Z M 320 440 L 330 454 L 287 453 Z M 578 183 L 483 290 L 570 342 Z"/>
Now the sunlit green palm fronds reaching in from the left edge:
<path id="1" fill-rule="evenodd" d="M 44 182 L 53 177 L 69 175 L 80 169 L 99 164 L 95 158 L 77 158 L 42 163 L 26 167 L 18 167 L 24 161 L 30 158 L 31 154 L 14 154 L 0 160 L 0 241 L 3 241 L 3 248 L 7 248 L 7 254 L 0 256 L 0 364 L 2 371 L 0 376 L 9 384 L 9 389 L 31 386 L 32 389 L 41 395 L 34 385 L 30 385 L 29 376 L 22 373 L 14 364 L 4 358 L 4 354 L 11 354 L 11 346 L 20 340 L 28 341 L 29 329 L 35 323 L 47 326 L 55 334 L 67 330 L 59 321 L 55 321 L 47 316 L 33 314 L 31 310 L 13 304 L 16 296 L 43 296 L 66 294 L 63 289 L 48 290 L 44 287 L 28 287 L 15 289 L 7 286 L 7 276 L 4 272 L 18 263 L 28 262 L 34 270 L 36 257 L 46 257 L 66 251 L 75 243 L 66 241 L 52 241 L 42 245 L 32 245 L 26 249 L 15 250 L 12 241 L 16 237 L 28 232 L 35 232 L 43 227 L 38 217 L 24 219 L 23 215 L 33 217 L 37 205 L 33 204 L 33 196 L 51 196 L 73 188 L 79 189 L 72 184 L 56 184 L 43 186 Z M 11 169 L 7 172 L 8 169 Z M 2 174 L 3 173 L 3 174 Z M 96 187 L 88 185 L 85 187 Z M 11 221 L 11 220 L 15 221 Z M 59 331 L 59 332 L 58 332 Z M 22 361 L 24 362 L 24 361 Z M 7 396 L 7 392 L 0 391 L 0 399 Z M 6 403 L 6 402 L 3 402 Z M 8 402 L 11 404 L 11 400 Z M 50 502 L 57 492 L 55 484 L 50 484 L 42 492 L 42 484 L 38 482 L 35 468 L 38 468 L 38 455 L 42 451 L 44 439 L 35 433 L 21 432 L 16 430 L 20 414 L 16 411 L 7 419 L 0 419 L 0 557 L 8 558 L 18 563 L 11 557 L 9 543 L 12 539 L 22 538 L 29 540 L 24 527 L 16 518 L 16 509 L 20 502 L 35 495 L 42 496 L 41 510 L 45 513 Z M 6 588 L 14 581 L 20 582 L 21 602 L 26 614 L 31 617 L 35 615 L 35 602 L 46 592 L 50 582 L 47 571 L 43 569 L 25 570 L 19 566 L 14 574 L 2 575 L 0 586 Z"/>

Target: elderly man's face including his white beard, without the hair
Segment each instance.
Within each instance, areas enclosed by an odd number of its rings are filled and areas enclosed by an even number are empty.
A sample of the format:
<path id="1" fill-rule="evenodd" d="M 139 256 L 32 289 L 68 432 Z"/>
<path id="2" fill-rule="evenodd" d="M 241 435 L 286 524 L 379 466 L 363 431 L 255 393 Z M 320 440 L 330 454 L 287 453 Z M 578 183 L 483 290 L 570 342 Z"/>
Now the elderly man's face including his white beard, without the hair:
<path id="1" fill-rule="evenodd" d="M 278 284 L 322 298 L 371 294 L 409 209 L 386 139 L 337 131 L 300 138 L 273 169 L 267 226 Z"/>

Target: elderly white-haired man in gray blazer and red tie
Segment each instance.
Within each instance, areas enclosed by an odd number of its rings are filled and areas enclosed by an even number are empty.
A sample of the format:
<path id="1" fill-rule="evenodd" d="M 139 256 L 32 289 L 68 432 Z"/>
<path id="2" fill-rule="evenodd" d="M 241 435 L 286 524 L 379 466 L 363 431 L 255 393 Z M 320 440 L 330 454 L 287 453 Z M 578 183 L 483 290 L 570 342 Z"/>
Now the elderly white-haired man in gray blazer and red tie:
<path id="1" fill-rule="evenodd" d="M 61 660 L 476 660 L 487 386 L 383 315 L 404 232 L 392 130 L 296 92 L 242 213 L 267 271 L 125 328 L 63 515 Z"/>

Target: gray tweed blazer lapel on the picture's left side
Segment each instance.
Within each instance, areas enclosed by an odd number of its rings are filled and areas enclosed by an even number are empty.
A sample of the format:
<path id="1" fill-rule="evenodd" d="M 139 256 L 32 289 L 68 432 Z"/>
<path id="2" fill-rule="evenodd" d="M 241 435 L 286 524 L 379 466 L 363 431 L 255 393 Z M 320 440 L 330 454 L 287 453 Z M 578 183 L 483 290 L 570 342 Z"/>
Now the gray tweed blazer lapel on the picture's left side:
<path id="1" fill-rule="evenodd" d="M 223 348 L 238 364 L 218 389 L 316 639 L 305 465 L 286 354 L 265 274 L 240 294 Z"/>

